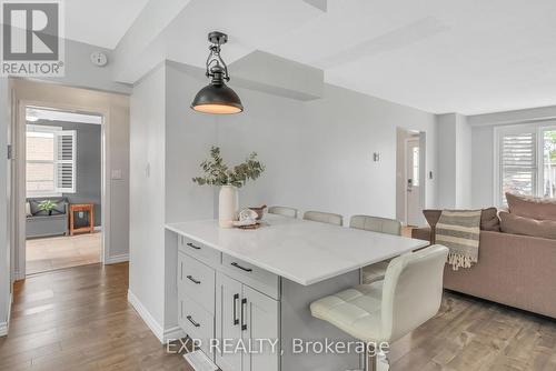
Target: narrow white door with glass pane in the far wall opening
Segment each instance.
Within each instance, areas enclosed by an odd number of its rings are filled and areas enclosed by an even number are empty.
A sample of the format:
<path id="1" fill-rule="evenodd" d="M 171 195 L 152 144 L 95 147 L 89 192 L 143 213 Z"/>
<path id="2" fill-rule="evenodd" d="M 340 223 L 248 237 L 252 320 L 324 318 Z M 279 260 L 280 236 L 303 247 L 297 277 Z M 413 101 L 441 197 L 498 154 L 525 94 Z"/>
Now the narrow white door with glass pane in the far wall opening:
<path id="1" fill-rule="evenodd" d="M 406 142 L 406 224 L 419 225 L 420 222 L 420 149 L 419 139 Z"/>

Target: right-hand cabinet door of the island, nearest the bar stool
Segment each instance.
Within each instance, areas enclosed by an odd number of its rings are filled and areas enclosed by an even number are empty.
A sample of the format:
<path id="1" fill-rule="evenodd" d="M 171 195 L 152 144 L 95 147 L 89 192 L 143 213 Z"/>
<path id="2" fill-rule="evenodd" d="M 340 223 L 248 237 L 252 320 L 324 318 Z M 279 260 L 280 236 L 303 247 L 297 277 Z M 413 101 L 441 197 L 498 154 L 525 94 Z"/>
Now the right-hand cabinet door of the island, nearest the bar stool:
<path id="1" fill-rule="evenodd" d="M 280 364 L 278 301 L 244 285 L 242 338 L 251 352 L 244 354 L 242 371 L 278 371 Z M 274 348 L 271 343 L 274 344 Z"/>

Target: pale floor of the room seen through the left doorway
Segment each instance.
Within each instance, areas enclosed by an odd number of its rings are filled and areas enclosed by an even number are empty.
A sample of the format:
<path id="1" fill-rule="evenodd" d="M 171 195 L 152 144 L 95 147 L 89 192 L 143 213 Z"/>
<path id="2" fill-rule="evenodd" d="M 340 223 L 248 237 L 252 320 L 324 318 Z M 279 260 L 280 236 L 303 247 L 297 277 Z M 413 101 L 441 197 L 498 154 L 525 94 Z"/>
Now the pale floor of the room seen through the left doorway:
<path id="1" fill-rule="evenodd" d="M 100 262 L 101 235 L 96 232 L 27 240 L 27 274 Z"/>

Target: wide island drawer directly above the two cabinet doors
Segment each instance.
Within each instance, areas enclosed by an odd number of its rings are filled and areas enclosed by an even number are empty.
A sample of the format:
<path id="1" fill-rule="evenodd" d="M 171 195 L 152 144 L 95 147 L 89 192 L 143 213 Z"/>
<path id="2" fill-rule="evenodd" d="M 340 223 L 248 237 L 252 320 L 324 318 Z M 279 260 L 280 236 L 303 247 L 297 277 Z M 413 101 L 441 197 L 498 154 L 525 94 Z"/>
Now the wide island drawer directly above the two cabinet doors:
<path id="1" fill-rule="evenodd" d="M 222 268 L 231 278 L 235 278 L 274 299 L 280 299 L 280 278 L 275 273 L 270 273 L 269 271 L 225 253 L 222 253 Z"/>

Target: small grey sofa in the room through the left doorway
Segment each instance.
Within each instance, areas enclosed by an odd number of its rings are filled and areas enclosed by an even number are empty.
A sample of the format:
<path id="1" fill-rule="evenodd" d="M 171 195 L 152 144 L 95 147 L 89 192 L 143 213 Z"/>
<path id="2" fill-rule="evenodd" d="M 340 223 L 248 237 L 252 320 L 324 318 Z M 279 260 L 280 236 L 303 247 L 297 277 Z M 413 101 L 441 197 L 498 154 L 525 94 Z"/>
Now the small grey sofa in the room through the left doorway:
<path id="1" fill-rule="evenodd" d="M 57 203 L 51 214 L 39 210 L 39 203 L 44 200 Z M 28 198 L 26 213 L 26 237 L 28 239 L 68 234 L 67 198 Z"/>

